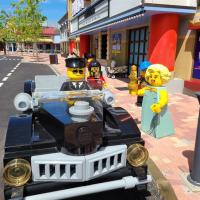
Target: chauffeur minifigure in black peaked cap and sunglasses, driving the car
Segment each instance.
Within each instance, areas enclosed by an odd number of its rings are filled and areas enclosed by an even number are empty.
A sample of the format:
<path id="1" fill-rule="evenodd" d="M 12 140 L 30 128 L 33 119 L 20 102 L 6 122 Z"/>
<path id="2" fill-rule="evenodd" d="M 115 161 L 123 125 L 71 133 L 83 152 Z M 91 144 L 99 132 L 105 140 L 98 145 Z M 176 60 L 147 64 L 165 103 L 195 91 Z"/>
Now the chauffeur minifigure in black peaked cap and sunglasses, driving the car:
<path id="1" fill-rule="evenodd" d="M 85 81 L 85 60 L 83 58 L 68 58 L 65 61 L 67 77 L 70 81 L 63 83 L 61 91 L 89 89 Z"/>

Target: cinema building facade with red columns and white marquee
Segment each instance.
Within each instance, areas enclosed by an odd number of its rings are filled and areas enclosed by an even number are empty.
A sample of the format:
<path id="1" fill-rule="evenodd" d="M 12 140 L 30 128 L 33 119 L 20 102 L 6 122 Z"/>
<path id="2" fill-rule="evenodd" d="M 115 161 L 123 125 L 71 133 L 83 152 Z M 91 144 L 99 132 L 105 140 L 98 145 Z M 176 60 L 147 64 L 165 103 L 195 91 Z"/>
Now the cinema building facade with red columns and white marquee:
<path id="1" fill-rule="evenodd" d="M 68 0 L 70 51 L 92 52 L 118 65 L 149 60 L 167 66 L 175 77 L 200 79 L 193 72 L 198 31 L 189 26 L 197 0 L 96 0 L 84 8 L 81 1 L 82 9 L 72 12 L 75 1 Z"/>

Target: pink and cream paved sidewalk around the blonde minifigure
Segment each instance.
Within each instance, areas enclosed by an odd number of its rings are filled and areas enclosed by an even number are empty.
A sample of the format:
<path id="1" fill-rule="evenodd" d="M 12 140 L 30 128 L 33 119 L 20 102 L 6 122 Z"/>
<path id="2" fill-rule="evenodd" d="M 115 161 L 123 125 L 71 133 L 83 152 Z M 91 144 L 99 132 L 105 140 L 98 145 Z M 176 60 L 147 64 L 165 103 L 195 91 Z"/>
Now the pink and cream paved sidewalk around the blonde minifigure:
<path id="1" fill-rule="evenodd" d="M 24 56 L 23 61 L 32 62 L 31 56 Z M 40 54 L 42 63 L 49 64 L 48 56 Z M 58 57 L 59 64 L 51 65 L 58 73 L 65 74 L 64 58 Z M 40 62 L 41 63 L 41 62 Z M 127 83 L 123 80 L 108 79 L 110 89 L 116 96 L 114 106 L 125 108 L 134 119 L 140 121 L 141 108 L 135 105 L 136 97 L 128 94 Z M 199 192 L 195 187 L 184 180 L 191 169 L 195 144 L 196 128 L 199 114 L 199 104 L 196 98 L 183 94 L 169 95 L 169 109 L 174 122 L 175 135 L 155 139 L 142 133 L 151 159 L 155 162 L 163 175 L 171 183 L 178 200 L 200 200 Z M 140 123 L 138 124 L 140 127 Z M 168 199 L 170 200 L 170 199 Z"/>

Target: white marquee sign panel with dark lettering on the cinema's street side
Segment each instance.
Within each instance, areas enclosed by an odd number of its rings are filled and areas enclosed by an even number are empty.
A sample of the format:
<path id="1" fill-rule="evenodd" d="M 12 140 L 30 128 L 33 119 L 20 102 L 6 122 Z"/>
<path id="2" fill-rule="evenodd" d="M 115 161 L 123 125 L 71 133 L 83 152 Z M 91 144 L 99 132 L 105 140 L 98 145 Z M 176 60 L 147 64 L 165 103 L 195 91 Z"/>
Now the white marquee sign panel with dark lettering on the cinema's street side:
<path id="1" fill-rule="evenodd" d="M 92 10 L 92 14 L 89 15 L 89 17 L 88 17 L 88 15 L 80 16 L 79 28 L 83 28 L 89 24 L 92 24 L 94 22 L 97 22 L 101 19 L 108 17 L 108 1 L 106 0 L 103 3 L 97 5 L 94 8 L 94 10 Z"/>

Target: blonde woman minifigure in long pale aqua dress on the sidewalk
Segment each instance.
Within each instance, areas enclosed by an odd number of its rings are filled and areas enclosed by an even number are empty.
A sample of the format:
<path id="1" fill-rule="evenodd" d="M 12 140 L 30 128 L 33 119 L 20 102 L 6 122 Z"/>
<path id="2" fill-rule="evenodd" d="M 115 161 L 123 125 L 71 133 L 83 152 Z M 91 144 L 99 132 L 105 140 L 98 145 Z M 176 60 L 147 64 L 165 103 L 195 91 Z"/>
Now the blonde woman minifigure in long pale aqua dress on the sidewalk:
<path id="1" fill-rule="evenodd" d="M 168 93 L 163 84 L 170 80 L 171 73 L 167 67 L 154 64 L 148 67 L 145 80 L 149 85 L 138 90 L 143 96 L 141 129 L 156 138 L 174 133 L 173 123 L 167 108 Z"/>

